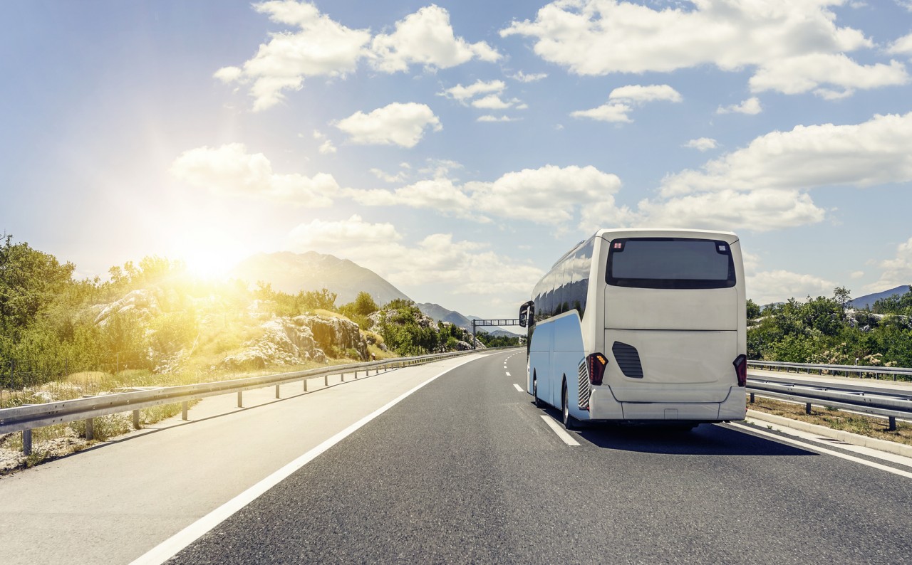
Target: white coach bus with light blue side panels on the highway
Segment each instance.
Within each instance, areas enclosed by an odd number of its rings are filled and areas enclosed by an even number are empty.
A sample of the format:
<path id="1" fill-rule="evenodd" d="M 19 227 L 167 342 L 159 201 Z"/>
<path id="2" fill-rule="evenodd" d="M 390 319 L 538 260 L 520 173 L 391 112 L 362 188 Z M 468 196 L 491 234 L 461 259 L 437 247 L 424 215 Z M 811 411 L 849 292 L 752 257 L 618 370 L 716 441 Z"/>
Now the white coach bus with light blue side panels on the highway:
<path id="1" fill-rule="evenodd" d="M 746 318 L 734 233 L 597 231 L 520 308 L 526 390 L 567 427 L 743 420 Z"/>

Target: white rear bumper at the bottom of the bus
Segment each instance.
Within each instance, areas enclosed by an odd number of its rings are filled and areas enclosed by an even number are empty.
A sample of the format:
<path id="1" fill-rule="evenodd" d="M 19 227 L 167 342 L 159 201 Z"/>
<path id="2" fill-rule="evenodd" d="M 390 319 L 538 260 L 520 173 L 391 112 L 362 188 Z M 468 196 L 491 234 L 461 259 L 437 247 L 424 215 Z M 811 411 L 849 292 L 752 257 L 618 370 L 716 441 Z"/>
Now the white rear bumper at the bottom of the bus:
<path id="1" fill-rule="evenodd" d="M 731 387 L 722 402 L 618 402 L 608 385 L 593 387 L 589 398 L 590 420 L 674 420 L 720 422 L 743 420 L 744 389 Z"/>

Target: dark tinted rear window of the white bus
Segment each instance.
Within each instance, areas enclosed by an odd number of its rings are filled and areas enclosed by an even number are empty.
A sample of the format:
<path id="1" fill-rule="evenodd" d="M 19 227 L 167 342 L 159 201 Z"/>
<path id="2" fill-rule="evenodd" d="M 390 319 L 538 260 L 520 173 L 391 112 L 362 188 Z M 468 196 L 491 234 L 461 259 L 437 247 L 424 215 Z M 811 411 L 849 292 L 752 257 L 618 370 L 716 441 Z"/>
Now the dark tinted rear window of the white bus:
<path id="1" fill-rule="evenodd" d="M 635 288 L 731 288 L 735 266 L 725 241 L 627 238 L 611 241 L 606 282 Z"/>

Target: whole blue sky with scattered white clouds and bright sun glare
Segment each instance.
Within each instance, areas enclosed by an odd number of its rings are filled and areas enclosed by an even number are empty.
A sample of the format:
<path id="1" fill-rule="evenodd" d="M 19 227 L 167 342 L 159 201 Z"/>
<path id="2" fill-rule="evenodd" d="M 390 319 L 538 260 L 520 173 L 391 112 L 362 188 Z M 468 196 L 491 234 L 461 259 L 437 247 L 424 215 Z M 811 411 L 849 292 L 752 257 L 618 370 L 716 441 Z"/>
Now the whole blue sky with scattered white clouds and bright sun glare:
<path id="1" fill-rule="evenodd" d="M 515 317 L 600 228 L 757 303 L 912 282 L 912 0 L 0 4 L 0 231 L 106 278 L 330 253 Z"/>

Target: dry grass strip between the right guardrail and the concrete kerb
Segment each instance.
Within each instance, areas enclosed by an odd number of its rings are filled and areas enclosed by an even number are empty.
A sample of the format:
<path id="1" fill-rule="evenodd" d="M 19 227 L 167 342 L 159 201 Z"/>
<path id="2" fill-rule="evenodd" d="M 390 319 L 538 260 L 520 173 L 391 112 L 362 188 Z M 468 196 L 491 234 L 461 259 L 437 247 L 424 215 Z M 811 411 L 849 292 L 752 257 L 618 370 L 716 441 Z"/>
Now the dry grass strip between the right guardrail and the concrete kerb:
<path id="1" fill-rule="evenodd" d="M 897 421 L 896 431 L 888 432 L 886 431 L 888 424 L 884 418 L 852 414 L 832 407 L 811 406 L 811 414 L 808 415 L 804 413 L 803 404 L 782 402 L 770 398 L 761 398 L 760 396 L 756 396 L 756 401 L 753 404 L 751 404 L 749 398 L 747 406 L 751 410 L 765 412 L 774 416 L 783 416 L 816 424 L 817 426 L 826 426 L 860 436 L 876 437 L 877 439 L 886 439 L 886 441 L 895 441 L 896 443 L 912 446 L 912 424 L 905 422 Z"/>

